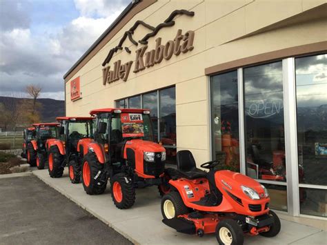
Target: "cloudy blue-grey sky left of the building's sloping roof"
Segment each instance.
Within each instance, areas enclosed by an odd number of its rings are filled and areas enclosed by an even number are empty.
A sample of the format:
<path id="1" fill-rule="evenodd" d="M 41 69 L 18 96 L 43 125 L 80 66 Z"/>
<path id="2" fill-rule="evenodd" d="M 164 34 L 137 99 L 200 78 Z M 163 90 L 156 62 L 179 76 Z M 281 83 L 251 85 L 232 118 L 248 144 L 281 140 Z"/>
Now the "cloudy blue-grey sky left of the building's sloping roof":
<path id="1" fill-rule="evenodd" d="M 130 0 L 0 0 L 0 96 L 63 99 L 63 75 Z"/>

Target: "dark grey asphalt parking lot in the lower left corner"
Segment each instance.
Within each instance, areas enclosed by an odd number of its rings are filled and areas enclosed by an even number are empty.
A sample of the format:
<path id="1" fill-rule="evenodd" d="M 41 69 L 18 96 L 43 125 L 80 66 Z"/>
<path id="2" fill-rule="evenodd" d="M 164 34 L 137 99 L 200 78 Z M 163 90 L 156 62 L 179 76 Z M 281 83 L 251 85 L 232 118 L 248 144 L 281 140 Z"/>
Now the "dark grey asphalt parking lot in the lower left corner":
<path id="1" fill-rule="evenodd" d="M 0 179 L 0 244 L 131 244 L 37 177 Z"/>

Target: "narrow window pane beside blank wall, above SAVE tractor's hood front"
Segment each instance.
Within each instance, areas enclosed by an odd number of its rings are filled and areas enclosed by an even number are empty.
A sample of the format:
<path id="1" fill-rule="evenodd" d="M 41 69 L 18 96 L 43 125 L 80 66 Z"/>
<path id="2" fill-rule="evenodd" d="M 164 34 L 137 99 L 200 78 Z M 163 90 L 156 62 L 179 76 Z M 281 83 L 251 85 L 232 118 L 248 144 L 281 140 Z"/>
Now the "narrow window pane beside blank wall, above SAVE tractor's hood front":
<path id="1" fill-rule="evenodd" d="M 176 95 L 175 87 L 159 91 L 160 141 L 166 148 L 167 163 L 176 162 Z"/>

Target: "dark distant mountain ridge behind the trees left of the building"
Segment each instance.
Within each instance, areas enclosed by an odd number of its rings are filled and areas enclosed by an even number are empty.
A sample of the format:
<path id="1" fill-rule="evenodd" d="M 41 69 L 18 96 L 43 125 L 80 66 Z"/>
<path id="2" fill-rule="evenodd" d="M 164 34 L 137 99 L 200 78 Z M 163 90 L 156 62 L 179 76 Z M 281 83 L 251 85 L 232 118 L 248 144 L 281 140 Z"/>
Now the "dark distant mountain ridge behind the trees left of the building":
<path id="1" fill-rule="evenodd" d="M 11 99 L 15 99 L 17 101 L 32 100 L 0 96 L 0 103 L 6 104 Z M 37 99 L 37 101 L 41 104 L 40 114 L 42 122 L 56 121 L 56 117 L 65 115 L 65 101 L 56 99 Z"/>

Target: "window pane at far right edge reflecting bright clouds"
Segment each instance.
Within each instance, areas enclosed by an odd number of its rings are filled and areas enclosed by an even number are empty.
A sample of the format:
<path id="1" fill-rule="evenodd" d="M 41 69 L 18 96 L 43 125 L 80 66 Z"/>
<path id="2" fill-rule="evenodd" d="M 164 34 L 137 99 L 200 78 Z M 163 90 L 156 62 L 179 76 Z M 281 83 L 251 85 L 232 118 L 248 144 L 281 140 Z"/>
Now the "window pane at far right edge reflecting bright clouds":
<path id="1" fill-rule="evenodd" d="M 326 186 L 327 55 L 295 59 L 295 74 L 299 183 Z"/>

